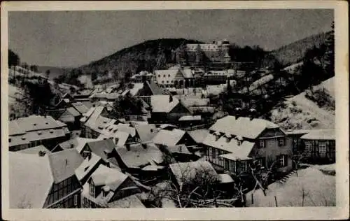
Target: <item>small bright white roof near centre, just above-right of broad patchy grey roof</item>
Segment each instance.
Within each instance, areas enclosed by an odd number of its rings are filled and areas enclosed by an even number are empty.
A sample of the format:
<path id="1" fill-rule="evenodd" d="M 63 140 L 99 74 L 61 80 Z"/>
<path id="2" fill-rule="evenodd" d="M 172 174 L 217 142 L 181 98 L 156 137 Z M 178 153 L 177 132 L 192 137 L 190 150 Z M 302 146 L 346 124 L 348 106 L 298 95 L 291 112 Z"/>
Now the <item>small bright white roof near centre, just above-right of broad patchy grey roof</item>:
<path id="1" fill-rule="evenodd" d="M 153 143 L 174 146 L 179 143 L 181 138 L 185 136 L 186 131 L 181 129 L 173 129 L 172 131 L 161 129 L 155 137 L 153 137 Z"/>

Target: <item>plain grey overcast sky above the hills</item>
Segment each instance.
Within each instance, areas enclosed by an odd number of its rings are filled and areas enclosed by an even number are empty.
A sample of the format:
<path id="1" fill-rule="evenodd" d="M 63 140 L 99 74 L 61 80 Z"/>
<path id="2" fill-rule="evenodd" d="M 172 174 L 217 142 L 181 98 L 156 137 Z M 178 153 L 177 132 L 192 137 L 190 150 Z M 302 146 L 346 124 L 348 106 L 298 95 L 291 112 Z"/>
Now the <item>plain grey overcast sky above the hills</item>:
<path id="1" fill-rule="evenodd" d="M 155 38 L 227 38 L 266 50 L 330 30 L 332 10 L 9 12 L 8 41 L 22 61 L 80 66 Z"/>

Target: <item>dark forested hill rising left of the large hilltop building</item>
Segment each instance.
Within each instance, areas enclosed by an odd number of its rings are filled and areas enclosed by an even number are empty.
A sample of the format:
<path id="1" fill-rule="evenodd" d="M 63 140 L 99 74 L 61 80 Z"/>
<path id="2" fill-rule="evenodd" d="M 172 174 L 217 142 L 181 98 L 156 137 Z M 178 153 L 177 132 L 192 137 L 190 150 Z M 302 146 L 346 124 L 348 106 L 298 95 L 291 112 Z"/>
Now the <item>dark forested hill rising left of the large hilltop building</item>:
<path id="1" fill-rule="evenodd" d="M 167 64 L 174 62 L 172 50 L 187 43 L 201 42 L 184 38 L 145 41 L 90 64 L 80 66 L 79 69 L 83 73 L 111 73 L 113 76 L 123 78 L 125 73 L 137 73 L 142 70 L 152 71 L 153 67 L 156 69 L 164 68 Z"/>

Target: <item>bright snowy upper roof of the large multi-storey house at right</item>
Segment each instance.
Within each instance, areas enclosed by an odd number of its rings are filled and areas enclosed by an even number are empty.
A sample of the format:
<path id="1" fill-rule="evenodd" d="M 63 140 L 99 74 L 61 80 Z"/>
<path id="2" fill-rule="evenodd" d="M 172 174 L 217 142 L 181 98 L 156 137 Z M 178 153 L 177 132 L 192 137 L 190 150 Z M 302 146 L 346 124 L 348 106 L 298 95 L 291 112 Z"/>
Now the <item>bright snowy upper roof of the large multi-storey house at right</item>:
<path id="1" fill-rule="evenodd" d="M 258 138 L 258 136 L 265 129 L 279 128 L 277 124 L 254 118 L 250 120 L 249 117 L 226 116 L 216 121 L 216 123 L 209 128 L 211 131 L 219 131 L 223 134 L 231 134 L 234 136 L 241 136 L 245 138 Z"/>

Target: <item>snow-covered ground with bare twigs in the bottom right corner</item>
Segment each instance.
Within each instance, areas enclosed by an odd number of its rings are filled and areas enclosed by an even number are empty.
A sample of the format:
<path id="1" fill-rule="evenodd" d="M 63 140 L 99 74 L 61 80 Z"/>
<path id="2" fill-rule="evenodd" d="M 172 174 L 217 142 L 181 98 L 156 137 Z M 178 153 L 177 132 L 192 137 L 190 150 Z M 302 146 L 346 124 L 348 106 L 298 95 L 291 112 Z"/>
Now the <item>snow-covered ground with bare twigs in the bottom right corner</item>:
<path id="1" fill-rule="evenodd" d="M 325 175 L 314 166 L 297 171 L 286 183 L 272 183 L 264 196 L 262 190 L 246 194 L 247 206 L 335 206 L 335 176 Z M 303 197 L 304 196 L 304 197 Z M 275 199 L 276 197 L 276 199 Z"/>

